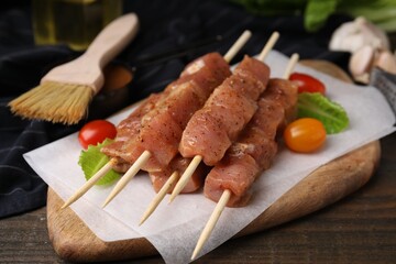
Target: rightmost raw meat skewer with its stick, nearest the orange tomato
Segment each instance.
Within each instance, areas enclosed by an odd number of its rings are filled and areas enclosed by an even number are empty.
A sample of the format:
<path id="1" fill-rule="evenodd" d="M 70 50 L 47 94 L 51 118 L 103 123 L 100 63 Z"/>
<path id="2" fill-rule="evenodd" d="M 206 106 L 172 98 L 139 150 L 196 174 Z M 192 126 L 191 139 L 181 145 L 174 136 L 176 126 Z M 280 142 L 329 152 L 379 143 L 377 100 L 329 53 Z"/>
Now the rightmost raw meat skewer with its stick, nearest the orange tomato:
<path id="1" fill-rule="evenodd" d="M 258 110 L 221 162 L 208 174 L 204 194 L 218 205 L 198 239 L 191 260 L 204 246 L 224 207 L 245 206 L 254 180 L 271 166 L 277 152 L 276 134 L 295 117 L 297 87 L 286 79 L 297 61 L 298 55 L 294 54 L 284 74 L 285 79 L 270 80 L 258 100 Z"/>

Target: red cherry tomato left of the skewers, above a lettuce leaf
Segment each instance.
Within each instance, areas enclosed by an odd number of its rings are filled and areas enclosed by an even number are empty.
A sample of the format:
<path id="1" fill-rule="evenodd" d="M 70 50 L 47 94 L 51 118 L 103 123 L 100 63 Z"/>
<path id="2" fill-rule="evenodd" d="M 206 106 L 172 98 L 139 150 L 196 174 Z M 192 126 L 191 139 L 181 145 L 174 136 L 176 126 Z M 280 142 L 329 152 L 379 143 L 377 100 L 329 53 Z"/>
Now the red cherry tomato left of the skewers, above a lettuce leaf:
<path id="1" fill-rule="evenodd" d="M 78 133 L 78 141 L 84 148 L 102 143 L 106 139 L 114 139 L 117 129 L 106 120 L 94 120 L 86 123 Z"/>

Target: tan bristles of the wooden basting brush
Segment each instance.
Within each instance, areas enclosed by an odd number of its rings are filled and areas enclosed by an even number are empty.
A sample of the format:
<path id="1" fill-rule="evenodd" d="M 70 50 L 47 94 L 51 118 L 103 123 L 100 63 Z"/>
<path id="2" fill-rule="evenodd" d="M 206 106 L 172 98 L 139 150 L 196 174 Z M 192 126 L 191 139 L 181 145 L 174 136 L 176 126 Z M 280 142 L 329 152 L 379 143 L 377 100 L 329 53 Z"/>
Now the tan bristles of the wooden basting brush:
<path id="1" fill-rule="evenodd" d="M 75 124 L 86 114 L 92 94 L 89 86 L 47 81 L 12 100 L 9 107 L 23 118 Z"/>

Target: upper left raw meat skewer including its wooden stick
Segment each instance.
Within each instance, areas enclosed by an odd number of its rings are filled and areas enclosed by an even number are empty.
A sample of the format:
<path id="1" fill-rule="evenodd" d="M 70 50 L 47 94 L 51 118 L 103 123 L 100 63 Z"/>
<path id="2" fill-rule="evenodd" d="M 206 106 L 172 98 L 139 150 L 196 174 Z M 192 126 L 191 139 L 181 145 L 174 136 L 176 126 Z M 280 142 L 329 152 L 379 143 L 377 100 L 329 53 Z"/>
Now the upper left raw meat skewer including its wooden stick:
<path id="1" fill-rule="evenodd" d="M 168 166 L 178 154 L 182 133 L 191 116 L 199 110 L 215 90 L 231 75 L 229 62 L 250 38 L 245 31 L 224 57 L 218 54 L 213 64 L 195 64 L 187 73 L 188 81 L 176 81 L 175 89 L 147 114 L 142 118 L 139 136 L 123 145 L 127 162 L 133 163 L 117 183 L 105 200 L 108 205 L 140 170 L 155 172 Z M 216 67 L 210 67 L 216 65 Z M 194 77 L 193 77 L 194 76 Z M 183 77 L 182 77 L 183 78 Z"/>

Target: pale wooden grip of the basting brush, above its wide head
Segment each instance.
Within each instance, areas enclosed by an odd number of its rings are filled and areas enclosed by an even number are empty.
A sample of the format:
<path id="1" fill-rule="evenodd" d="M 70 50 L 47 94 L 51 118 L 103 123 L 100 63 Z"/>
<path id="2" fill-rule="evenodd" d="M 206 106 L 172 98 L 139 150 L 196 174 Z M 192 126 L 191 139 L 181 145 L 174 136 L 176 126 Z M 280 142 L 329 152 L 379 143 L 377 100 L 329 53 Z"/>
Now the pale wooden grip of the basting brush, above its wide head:
<path id="1" fill-rule="evenodd" d="M 124 14 L 108 24 L 89 45 L 81 59 L 89 65 L 99 65 L 101 68 L 114 58 L 136 35 L 139 20 L 136 14 Z"/>

